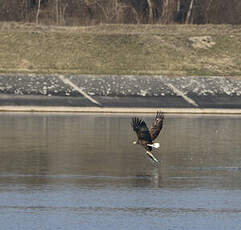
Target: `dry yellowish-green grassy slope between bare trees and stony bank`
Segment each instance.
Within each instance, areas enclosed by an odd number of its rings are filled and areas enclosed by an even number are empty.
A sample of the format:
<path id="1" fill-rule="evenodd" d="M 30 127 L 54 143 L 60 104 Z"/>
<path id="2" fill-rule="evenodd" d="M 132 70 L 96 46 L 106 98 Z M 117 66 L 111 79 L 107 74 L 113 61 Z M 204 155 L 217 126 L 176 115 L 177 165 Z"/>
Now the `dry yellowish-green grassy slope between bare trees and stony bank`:
<path id="1" fill-rule="evenodd" d="M 240 76 L 241 26 L 1 22 L 0 72 Z"/>

